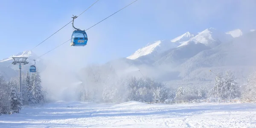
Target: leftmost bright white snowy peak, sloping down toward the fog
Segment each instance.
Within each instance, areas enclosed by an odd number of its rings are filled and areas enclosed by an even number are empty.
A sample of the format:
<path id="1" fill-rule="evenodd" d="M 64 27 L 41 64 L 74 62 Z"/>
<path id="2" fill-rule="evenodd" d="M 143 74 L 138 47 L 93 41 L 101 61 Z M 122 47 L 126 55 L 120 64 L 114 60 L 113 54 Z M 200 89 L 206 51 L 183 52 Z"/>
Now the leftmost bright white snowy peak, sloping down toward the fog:
<path id="1" fill-rule="evenodd" d="M 127 58 L 134 60 L 143 55 L 148 55 L 153 52 L 160 53 L 175 47 L 177 47 L 177 45 L 169 40 L 155 41 L 154 43 L 147 44 L 145 47 L 138 49 L 136 52 L 134 52 L 134 54 L 128 56 Z"/>

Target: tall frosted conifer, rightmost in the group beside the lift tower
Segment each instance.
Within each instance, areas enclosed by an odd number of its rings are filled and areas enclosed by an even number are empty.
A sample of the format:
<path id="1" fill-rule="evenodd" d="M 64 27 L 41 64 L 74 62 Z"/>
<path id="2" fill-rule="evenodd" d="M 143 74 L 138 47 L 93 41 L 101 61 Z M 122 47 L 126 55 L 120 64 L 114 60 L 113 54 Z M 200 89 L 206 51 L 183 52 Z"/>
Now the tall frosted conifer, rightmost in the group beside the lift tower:
<path id="1" fill-rule="evenodd" d="M 40 73 L 32 73 L 31 75 L 31 84 L 32 89 L 30 95 L 30 103 L 31 104 L 38 104 L 40 102 L 44 102 L 44 91 L 42 91 L 41 86 L 41 76 Z"/>

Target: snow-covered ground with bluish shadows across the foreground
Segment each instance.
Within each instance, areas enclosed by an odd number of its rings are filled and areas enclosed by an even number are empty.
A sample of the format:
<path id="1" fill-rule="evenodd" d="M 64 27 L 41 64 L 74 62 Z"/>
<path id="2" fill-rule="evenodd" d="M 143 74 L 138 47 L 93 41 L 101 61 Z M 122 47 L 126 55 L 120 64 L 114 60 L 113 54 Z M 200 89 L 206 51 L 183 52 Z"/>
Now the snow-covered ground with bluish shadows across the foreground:
<path id="1" fill-rule="evenodd" d="M 256 128 L 256 104 L 55 102 L 0 116 L 0 128 Z"/>

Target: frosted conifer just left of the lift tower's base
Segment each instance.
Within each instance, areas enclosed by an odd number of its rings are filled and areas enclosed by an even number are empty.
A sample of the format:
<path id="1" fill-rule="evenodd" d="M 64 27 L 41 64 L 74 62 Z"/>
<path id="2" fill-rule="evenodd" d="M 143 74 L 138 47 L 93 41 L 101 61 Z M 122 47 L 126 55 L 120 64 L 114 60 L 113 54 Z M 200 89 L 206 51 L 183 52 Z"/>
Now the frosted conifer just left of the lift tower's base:
<path id="1" fill-rule="evenodd" d="M 19 113 L 23 99 L 21 97 L 21 93 L 18 92 L 18 83 L 11 80 L 8 82 L 8 85 L 11 87 L 11 92 L 9 96 L 9 100 L 11 103 L 10 108 L 12 111 L 16 111 L 17 113 Z"/>

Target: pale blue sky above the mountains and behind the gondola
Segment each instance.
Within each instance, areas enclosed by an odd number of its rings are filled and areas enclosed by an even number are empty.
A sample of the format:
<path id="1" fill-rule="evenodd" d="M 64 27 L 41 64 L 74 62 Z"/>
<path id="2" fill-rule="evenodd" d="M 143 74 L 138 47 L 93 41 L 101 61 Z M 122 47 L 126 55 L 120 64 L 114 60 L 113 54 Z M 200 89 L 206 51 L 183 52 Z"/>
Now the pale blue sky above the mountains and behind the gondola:
<path id="1" fill-rule="evenodd" d="M 0 59 L 32 49 L 96 0 L 0 0 Z M 99 0 L 75 20 L 87 29 L 133 0 Z M 145 44 L 209 27 L 256 29 L 255 0 L 138 0 L 87 31 L 88 45 L 64 44 L 43 58 L 62 64 L 105 63 Z M 69 24 L 33 50 L 38 55 L 70 39 Z"/>

